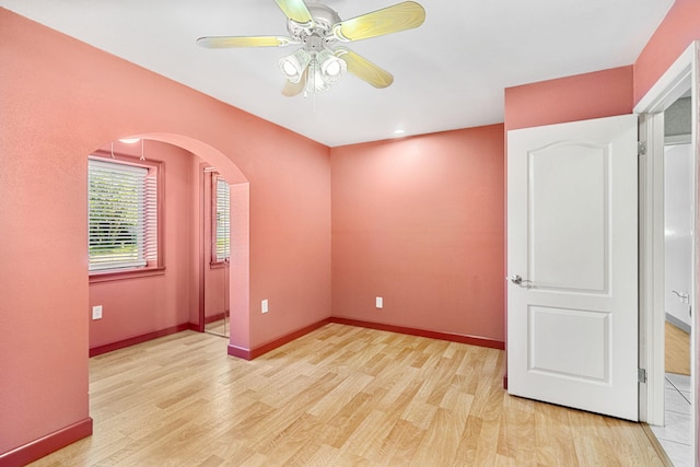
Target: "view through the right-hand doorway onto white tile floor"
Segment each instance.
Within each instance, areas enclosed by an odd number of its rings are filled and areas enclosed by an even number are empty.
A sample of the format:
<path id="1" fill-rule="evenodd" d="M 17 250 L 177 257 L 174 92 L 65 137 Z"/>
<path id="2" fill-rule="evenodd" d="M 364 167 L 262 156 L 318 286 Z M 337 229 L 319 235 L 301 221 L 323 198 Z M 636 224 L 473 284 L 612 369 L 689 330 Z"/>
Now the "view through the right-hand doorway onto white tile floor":
<path id="1" fill-rule="evenodd" d="M 664 425 L 652 432 L 672 459 L 690 457 L 692 395 L 693 153 L 690 90 L 664 112 Z M 687 452 L 682 455 L 681 452 Z M 678 453 L 678 454 L 676 454 Z"/>

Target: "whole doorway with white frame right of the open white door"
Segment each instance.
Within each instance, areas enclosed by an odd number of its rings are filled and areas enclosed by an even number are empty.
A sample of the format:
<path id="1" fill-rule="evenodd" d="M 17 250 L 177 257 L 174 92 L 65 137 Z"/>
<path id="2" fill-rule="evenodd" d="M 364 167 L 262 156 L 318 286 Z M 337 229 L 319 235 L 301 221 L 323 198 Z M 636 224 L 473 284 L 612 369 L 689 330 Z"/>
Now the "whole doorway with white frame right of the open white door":
<path id="1" fill-rule="evenodd" d="M 674 463 L 697 456 L 697 50 L 692 44 L 634 108 L 640 114 L 640 419 Z M 645 151 L 644 151 L 645 149 Z"/>

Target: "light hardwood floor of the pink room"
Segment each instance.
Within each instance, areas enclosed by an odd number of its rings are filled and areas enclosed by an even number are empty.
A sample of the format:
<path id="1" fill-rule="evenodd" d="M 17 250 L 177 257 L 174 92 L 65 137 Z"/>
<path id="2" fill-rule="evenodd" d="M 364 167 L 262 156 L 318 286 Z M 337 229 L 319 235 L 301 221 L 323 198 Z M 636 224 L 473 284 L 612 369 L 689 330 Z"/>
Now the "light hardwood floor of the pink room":
<path id="1" fill-rule="evenodd" d="M 499 350 L 338 324 L 225 348 L 185 331 L 91 359 L 94 434 L 34 465 L 663 465 L 639 424 L 509 396 Z"/>

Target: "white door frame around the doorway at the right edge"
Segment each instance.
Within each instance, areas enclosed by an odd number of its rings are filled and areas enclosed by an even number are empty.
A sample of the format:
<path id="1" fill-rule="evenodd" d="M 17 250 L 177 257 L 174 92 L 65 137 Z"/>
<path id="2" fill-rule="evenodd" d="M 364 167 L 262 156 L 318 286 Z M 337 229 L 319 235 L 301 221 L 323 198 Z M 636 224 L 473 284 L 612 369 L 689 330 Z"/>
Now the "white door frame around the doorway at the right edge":
<path id="1" fill-rule="evenodd" d="M 646 383 L 640 384 L 640 420 L 650 424 L 664 423 L 664 114 L 684 92 L 690 89 L 691 144 L 693 157 L 693 200 L 698 207 L 698 51 L 696 40 L 676 59 L 661 79 L 634 106 L 640 115 L 640 141 L 646 150 L 640 155 L 640 367 L 646 370 Z M 698 210 L 695 210 L 692 244 L 693 293 L 692 310 L 698 310 Z M 698 313 L 693 313 L 690 336 L 690 373 L 693 402 L 697 401 Z M 692 440 L 698 439 L 697 404 L 692 408 Z M 697 446 L 693 446 L 693 456 Z"/>

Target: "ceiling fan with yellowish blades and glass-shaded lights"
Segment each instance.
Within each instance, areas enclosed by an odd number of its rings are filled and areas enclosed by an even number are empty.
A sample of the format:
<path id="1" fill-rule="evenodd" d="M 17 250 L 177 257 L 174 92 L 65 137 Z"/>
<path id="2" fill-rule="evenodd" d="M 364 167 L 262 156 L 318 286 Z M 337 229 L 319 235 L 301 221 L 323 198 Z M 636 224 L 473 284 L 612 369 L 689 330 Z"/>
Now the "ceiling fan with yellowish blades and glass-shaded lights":
<path id="1" fill-rule="evenodd" d="M 341 21 L 338 13 L 322 3 L 303 0 L 275 0 L 287 15 L 289 36 L 209 36 L 197 44 L 207 48 L 284 47 L 302 45 L 282 57 L 280 70 L 287 78 L 282 94 L 294 96 L 323 92 L 342 79 L 346 71 L 375 87 L 387 87 L 394 77 L 386 70 L 338 42 L 366 39 L 420 26 L 425 10 L 415 1 L 405 1 L 372 13 Z"/>

